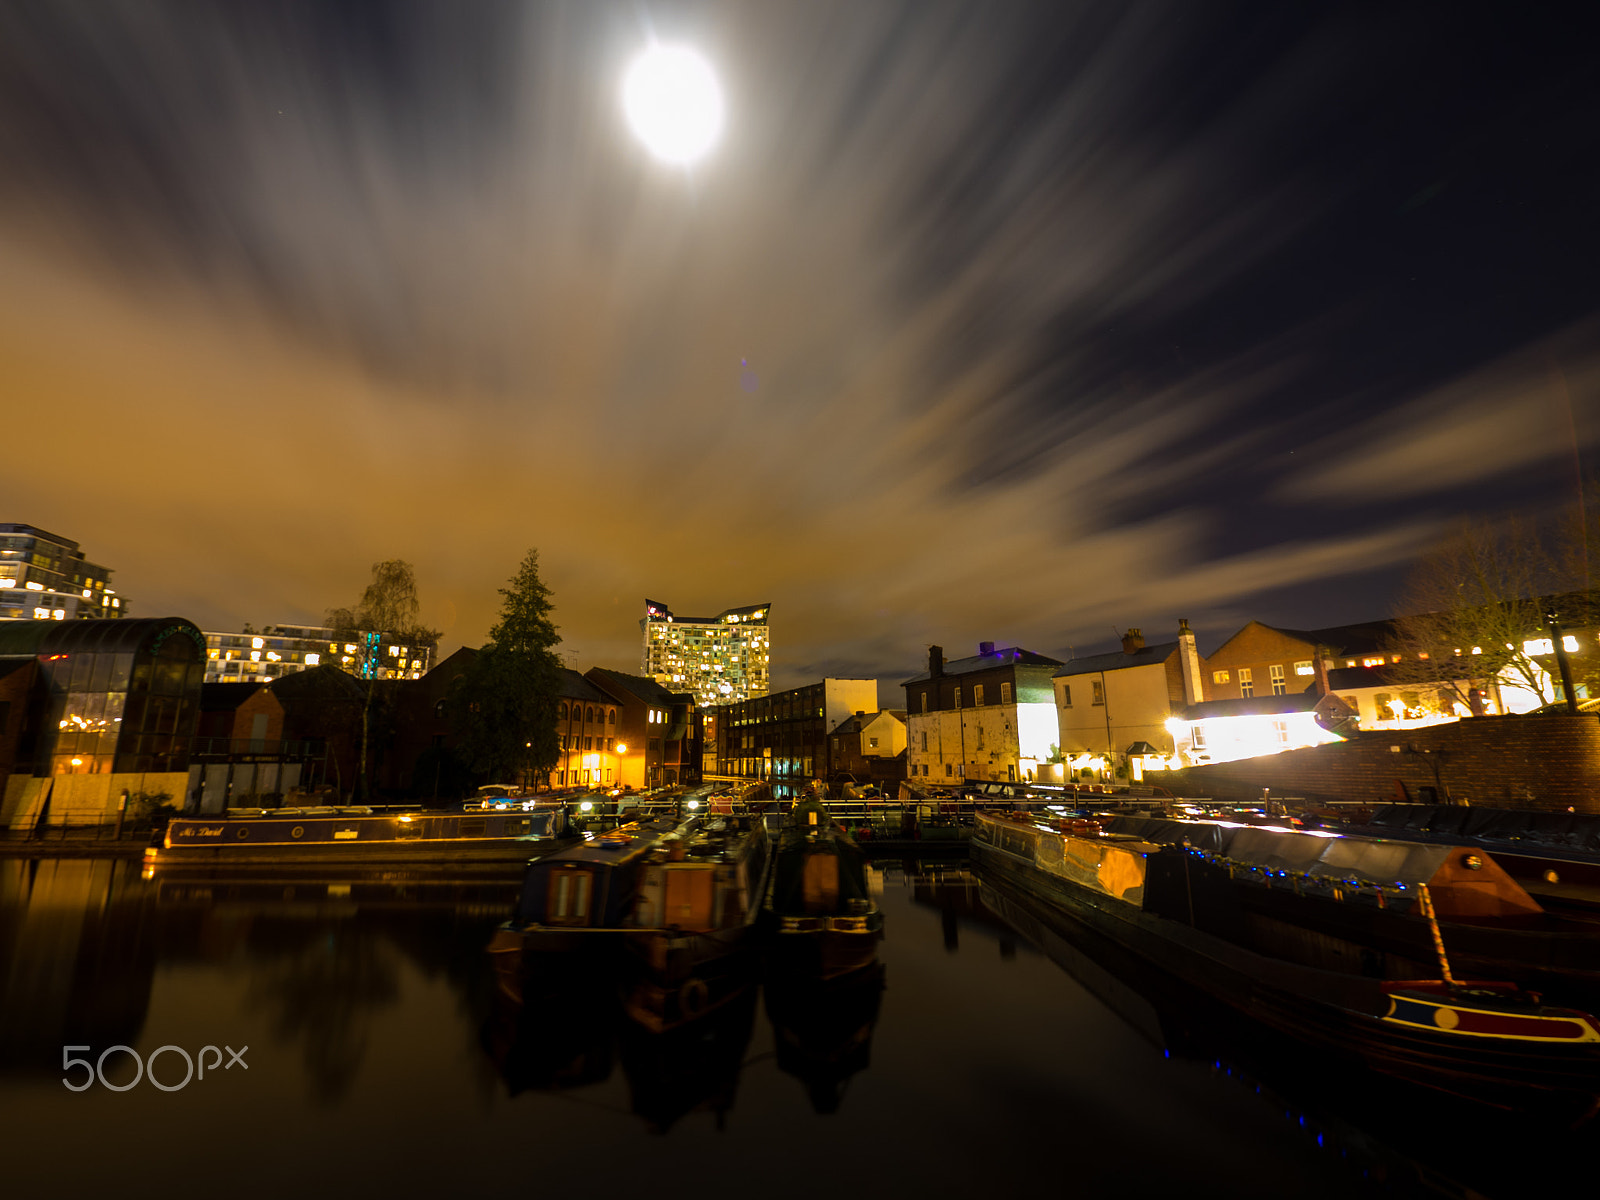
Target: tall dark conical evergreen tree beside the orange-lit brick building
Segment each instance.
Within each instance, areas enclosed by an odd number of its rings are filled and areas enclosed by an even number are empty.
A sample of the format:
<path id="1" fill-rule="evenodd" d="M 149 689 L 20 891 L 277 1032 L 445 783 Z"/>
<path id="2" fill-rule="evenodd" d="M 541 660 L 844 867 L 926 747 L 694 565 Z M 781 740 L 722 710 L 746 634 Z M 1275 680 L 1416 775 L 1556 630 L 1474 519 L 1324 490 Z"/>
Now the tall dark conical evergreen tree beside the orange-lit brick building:
<path id="1" fill-rule="evenodd" d="M 550 589 L 539 579 L 539 552 L 528 550 L 490 630 L 451 694 L 456 728 L 467 760 L 491 781 L 547 779 L 560 755 L 555 736 L 555 690 L 562 661 L 560 634 L 550 621 Z"/>

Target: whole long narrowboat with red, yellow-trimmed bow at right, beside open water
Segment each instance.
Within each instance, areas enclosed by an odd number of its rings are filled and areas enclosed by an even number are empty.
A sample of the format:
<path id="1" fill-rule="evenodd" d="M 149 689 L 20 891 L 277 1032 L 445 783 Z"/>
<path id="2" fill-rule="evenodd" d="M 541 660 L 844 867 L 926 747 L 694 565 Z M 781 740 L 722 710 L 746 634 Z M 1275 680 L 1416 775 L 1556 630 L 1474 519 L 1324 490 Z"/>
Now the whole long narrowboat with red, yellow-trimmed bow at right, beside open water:
<path id="1" fill-rule="evenodd" d="M 1594 1016 L 1510 984 L 1454 981 L 1443 955 L 1442 978 L 1410 981 L 1275 957 L 1227 910 L 1227 891 L 1195 886 L 1203 851 L 984 813 L 973 859 L 986 882 L 1014 885 L 1251 1021 L 1373 1070 L 1566 1120 L 1600 1107 Z"/>

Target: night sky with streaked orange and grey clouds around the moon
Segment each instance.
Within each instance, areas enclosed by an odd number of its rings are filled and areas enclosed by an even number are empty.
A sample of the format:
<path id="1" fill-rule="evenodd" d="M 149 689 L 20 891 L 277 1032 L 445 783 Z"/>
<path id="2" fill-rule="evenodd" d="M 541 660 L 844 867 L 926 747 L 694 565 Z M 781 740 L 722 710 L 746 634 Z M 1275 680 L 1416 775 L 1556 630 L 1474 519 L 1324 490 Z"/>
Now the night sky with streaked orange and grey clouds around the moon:
<path id="1" fill-rule="evenodd" d="M 205 629 L 408 558 L 445 653 L 538 547 L 571 666 L 771 602 L 776 688 L 1387 616 L 1592 469 L 1579 11 L 8 3 L 0 520 Z"/>

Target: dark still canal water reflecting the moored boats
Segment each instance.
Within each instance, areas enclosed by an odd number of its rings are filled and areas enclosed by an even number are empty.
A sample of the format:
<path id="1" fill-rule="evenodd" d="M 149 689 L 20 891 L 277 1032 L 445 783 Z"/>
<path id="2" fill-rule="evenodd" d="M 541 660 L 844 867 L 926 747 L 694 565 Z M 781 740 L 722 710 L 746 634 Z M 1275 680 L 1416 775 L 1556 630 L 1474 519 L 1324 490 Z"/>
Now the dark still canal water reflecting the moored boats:
<path id="1" fill-rule="evenodd" d="M 1597 1149 L 1290 1067 L 1013 926 L 960 862 L 875 882 L 880 971 L 795 990 L 752 968 L 658 1035 L 594 965 L 498 997 L 510 877 L 0 859 L 6 1194 L 1518 1197 Z"/>

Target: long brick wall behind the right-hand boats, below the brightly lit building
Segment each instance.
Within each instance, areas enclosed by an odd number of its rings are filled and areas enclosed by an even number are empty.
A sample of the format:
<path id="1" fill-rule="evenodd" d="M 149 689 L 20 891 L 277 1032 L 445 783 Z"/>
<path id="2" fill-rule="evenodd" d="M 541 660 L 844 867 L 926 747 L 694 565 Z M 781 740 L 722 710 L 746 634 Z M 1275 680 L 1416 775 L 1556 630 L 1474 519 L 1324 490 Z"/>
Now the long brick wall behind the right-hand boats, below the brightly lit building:
<path id="1" fill-rule="evenodd" d="M 1400 747 L 1398 752 L 1394 747 Z M 1437 776 L 1435 776 L 1437 770 Z M 1347 742 L 1173 773 L 1189 795 L 1248 800 L 1270 787 L 1309 800 L 1470 800 L 1498 808 L 1600 813 L 1600 717 L 1472 717 L 1426 730 L 1374 730 Z M 1400 795 L 1403 784 L 1405 795 Z"/>

